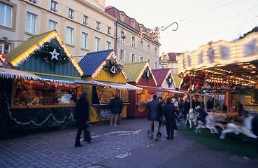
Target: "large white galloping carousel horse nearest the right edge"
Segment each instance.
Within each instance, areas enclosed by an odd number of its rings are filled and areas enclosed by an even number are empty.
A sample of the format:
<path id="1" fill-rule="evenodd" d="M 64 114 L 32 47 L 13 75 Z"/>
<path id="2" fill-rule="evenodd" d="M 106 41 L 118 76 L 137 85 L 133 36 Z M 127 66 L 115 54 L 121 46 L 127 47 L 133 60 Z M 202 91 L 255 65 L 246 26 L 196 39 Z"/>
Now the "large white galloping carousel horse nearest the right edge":
<path id="1" fill-rule="evenodd" d="M 245 134 L 247 137 L 257 139 L 257 136 L 252 132 L 252 119 L 254 116 L 249 115 L 243 121 L 243 125 L 237 125 L 235 123 L 228 123 L 226 129 L 222 130 L 220 139 L 224 139 L 227 133 Z"/>

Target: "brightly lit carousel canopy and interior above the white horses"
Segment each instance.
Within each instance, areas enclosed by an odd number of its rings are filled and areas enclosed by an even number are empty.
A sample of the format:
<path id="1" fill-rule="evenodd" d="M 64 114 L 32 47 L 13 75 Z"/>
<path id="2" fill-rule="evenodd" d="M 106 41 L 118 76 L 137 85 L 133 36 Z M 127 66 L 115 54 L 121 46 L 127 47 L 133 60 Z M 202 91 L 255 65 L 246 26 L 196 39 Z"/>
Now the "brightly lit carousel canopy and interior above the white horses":
<path id="1" fill-rule="evenodd" d="M 178 72 L 183 78 L 182 89 L 216 95 L 230 93 L 228 111 L 236 104 L 243 109 L 258 110 L 258 33 L 234 42 L 217 41 L 201 45 L 198 50 L 184 52 L 178 59 Z M 194 85 L 194 87 L 192 87 Z M 220 96 L 221 97 L 221 96 Z M 224 98 L 224 97 L 223 97 Z M 225 99 L 225 98 L 224 98 Z"/>

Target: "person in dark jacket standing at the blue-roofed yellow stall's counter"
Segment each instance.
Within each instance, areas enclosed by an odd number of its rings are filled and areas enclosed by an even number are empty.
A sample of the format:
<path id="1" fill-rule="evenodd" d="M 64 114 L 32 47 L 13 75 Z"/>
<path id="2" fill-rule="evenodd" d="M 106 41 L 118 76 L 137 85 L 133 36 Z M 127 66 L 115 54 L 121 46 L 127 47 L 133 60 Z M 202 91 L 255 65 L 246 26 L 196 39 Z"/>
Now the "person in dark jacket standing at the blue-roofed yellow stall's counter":
<path id="1" fill-rule="evenodd" d="M 123 102 L 120 99 L 120 97 L 116 94 L 113 99 L 110 100 L 109 102 L 109 107 L 111 111 L 111 116 L 110 116 L 110 126 L 117 126 L 117 119 L 118 116 L 122 113 L 122 108 L 123 108 Z"/>

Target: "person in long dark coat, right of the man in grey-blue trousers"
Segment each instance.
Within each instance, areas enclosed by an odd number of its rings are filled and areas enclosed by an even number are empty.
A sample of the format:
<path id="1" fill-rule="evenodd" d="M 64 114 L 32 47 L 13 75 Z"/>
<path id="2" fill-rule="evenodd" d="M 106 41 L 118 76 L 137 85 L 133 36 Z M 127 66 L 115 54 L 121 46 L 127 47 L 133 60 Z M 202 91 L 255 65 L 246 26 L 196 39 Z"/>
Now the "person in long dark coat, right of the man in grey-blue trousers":
<path id="1" fill-rule="evenodd" d="M 175 119 L 179 119 L 175 115 L 174 105 L 171 103 L 170 97 L 166 99 L 166 104 L 164 106 L 164 116 L 166 118 L 166 134 L 168 135 L 166 139 L 173 139 L 174 130 L 178 130 Z M 179 121 L 181 122 L 181 120 Z"/>

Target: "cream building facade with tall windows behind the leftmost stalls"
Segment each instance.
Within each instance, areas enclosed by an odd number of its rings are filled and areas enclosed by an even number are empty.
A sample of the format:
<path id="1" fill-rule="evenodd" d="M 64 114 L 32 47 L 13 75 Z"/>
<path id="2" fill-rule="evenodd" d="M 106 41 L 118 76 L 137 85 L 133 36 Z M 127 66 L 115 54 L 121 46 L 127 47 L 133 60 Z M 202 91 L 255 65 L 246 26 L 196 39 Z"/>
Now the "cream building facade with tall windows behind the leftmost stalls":
<path id="1" fill-rule="evenodd" d="M 115 45 L 116 18 L 105 0 L 0 0 L 0 51 L 6 54 L 32 36 L 56 29 L 79 62 L 87 52 Z"/>

